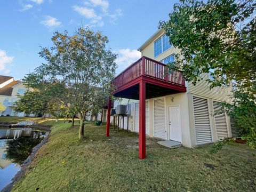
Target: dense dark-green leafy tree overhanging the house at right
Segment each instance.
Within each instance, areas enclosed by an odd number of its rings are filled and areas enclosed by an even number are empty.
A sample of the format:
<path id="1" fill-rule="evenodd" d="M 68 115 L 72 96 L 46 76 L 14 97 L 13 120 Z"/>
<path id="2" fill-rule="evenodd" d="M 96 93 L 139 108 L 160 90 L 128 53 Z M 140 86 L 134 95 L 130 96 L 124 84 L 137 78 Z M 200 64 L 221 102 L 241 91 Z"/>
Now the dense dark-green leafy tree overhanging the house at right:
<path id="1" fill-rule="evenodd" d="M 210 89 L 233 84 L 233 103 L 223 109 L 247 143 L 256 148 L 256 18 L 255 0 L 182 0 L 168 21 L 160 21 L 170 43 L 181 51 L 172 69 L 182 69 L 194 85 L 210 73 Z M 249 114 L 250 111 L 250 114 Z M 254 119 L 253 119 L 254 118 Z"/>

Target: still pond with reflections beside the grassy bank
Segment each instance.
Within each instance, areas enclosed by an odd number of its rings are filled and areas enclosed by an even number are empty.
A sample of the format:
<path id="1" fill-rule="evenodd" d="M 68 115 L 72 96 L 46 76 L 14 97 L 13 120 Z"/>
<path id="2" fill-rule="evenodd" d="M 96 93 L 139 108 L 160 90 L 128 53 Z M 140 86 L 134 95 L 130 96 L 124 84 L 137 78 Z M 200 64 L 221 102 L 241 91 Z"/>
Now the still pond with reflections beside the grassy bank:
<path id="1" fill-rule="evenodd" d="M 8 185 L 20 170 L 20 165 L 48 134 L 31 128 L 0 127 L 0 190 Z"/>

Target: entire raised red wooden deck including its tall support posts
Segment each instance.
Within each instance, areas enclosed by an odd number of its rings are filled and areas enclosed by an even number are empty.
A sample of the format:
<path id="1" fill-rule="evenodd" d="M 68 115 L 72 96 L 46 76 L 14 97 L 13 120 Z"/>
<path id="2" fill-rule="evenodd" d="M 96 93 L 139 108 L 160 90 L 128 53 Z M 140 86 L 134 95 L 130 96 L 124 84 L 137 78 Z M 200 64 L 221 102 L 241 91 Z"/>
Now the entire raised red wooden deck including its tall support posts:
<path id="1" fill-rule="evenodd" d="M 142 57 L 125 69 L 115 79 L 114 96 L 137 99 L 139 102 L 139 158 L 146 158 L 146 99 L 186 92 L 181 71 L 168 71 L 161 62 Z M 109 137 L 111 100 L 108 102 L 106 136 Z"/>

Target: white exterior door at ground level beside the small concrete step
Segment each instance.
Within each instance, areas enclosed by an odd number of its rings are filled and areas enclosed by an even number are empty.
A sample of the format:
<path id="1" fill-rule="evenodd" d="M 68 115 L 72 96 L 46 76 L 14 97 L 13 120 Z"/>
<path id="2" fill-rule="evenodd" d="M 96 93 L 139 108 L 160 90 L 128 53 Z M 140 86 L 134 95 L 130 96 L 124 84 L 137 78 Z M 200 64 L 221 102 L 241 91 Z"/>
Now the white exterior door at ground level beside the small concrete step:
<path id="1" fill-rule="evenodd" d="M 169 107 L 169 138 L 181 142 L 180 107 Z"/>

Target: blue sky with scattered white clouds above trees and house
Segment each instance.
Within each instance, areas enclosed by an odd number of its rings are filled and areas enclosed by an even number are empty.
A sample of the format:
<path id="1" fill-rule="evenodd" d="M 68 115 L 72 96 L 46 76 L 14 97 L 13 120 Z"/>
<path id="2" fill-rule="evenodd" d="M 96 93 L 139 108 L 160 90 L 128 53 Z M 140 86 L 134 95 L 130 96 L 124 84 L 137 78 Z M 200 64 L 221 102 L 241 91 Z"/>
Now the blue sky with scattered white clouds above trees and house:
<path id="1" fill-rule="evenodd" d="M 167 20 L 177 0 L 0 0 L 0 75 L 22 79 L 44 63 L 54 31 L 102 31 L 118 53 L 116 73 L 141 57 L 137 49 Z"/>

